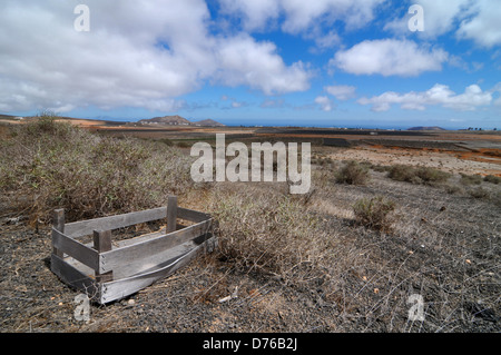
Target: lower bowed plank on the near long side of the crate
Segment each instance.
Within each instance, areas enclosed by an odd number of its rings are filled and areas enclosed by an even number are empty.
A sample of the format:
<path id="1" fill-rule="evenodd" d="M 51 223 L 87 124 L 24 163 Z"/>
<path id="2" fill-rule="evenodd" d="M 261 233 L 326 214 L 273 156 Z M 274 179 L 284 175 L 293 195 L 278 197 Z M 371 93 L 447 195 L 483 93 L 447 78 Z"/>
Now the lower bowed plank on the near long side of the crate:
<path id="1" fill-rule="evenodd" d="M 202 252 L 204 252 L 205 245 L 202 244 L 185 255 L 179 256 L 174 262 L 160 267 L 159 269 L 151 270 L 149 273 L 144 273 L 140 275 L 135 275 L 128 278 L 115 280 L 111 283 L 106 283 L 102 285 L 101 303 L 108 303 L 111 300 L 117 300 L 131 295 L 149 285 L 155 283 L 160 278 L 170 276 L 179 268 L 186 266 L 195 257 L 197 257 Z"/>

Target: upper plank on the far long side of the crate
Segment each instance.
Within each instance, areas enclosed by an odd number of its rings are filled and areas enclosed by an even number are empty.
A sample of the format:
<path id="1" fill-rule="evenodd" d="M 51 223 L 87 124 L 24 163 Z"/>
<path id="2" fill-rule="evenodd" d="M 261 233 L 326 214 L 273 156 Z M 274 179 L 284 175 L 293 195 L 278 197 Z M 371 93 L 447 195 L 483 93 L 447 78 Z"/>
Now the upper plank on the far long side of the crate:
<path id="1" fill-rule="evenodd" d="M 158 207 L 137 213 L 75 221 L 66 225 L 65 234 L 70 238 L 91 235 L 94 230 L 111 230 L 150 220 L 165 218 L 167 207 Z"/>

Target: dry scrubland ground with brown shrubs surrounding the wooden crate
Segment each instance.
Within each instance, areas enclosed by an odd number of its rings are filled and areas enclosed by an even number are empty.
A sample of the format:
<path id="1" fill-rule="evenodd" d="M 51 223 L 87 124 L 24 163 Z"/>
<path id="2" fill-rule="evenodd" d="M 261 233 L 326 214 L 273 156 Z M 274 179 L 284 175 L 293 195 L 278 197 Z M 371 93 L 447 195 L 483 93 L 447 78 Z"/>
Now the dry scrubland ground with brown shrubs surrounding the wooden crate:
<path id="1" fill-rule="evenodd" d="M 189 145 L 171 139 L 51 117 L 1 128 L 2 332 L 501 331 L 495 166 L 479 175 L 314 146 L 312 188 L 291 195 L 286 183 L 195 184 Z M 217 253 L 76 321 L 78 292 L 50 272 L 51 210 L 72 221 L 169 194 L 218 220 Z M 413 295 L 424 321 L 409 317 Z"/>

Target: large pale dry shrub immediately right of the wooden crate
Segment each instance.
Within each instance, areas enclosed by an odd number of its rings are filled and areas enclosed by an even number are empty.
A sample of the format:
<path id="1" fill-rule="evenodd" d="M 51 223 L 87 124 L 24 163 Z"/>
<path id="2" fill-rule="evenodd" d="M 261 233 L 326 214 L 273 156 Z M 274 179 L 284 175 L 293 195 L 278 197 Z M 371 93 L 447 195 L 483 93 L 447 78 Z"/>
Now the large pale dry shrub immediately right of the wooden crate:
<path id="1" fill-rule="evenodd" d="M 220 255 L 240 268 L 301 283 L 325 256 L 327 234 L 301 201 L 271 195 L 215 191 L 209 208 L 219 223 Z"/>

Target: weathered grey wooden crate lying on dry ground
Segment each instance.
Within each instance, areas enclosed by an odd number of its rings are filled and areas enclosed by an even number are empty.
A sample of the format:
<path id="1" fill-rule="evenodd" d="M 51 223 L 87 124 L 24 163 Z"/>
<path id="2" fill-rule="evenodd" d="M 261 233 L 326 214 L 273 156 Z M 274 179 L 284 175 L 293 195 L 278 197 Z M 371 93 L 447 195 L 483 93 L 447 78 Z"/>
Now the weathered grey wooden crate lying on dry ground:
<path id="1" fill-rule="evenodd" d="M 111 230 L 167 217 L 156 233 L 111 243 Z M 177 218 L 194 223 L 177 225 Z M 177 207 L 170 196 L 166 207 L 125 215 L 65 223 L 55 210 L 51 270 L 68 285 L 105 304 L 131 295 L 187 265 L 200 253 L 213 252 L 217 238 L 213 218 Z M 92 235 L 94 243 L 79 239 Z"/>

